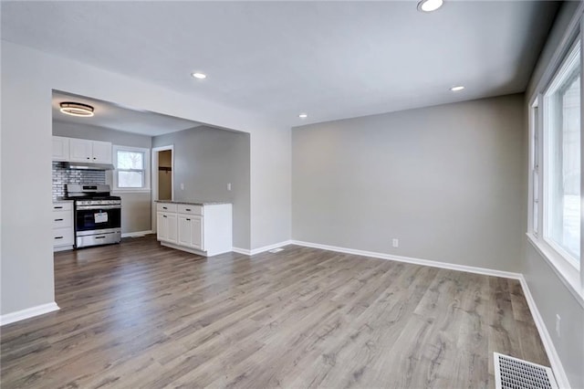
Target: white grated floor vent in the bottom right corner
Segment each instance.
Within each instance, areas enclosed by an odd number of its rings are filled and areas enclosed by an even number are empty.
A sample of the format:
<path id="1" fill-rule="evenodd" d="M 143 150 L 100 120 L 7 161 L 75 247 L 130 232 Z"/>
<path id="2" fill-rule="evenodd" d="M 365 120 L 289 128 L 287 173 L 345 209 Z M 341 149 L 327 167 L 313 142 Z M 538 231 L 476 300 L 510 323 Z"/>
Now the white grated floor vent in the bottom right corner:
<path id="1" fill-rule="evenodd" d="M 547 366 L 494 352 L 496 389 L 558 389 Z"/>

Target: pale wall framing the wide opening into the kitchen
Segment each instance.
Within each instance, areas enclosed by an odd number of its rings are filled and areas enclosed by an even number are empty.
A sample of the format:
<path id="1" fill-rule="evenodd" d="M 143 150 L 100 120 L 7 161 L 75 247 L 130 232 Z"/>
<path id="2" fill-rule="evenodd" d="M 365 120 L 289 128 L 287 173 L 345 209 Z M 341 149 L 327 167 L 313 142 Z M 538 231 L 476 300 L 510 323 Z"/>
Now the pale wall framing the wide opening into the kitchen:
<path id="1" fill-rule="evenodd" d="M 242 110 L 2 41 L 1 314 L 54 300 L 52 89 L 249 132 L 251 248 L 289 239 L 289 129 Z M 276 156 L 273 162 L 271 154 Z"/>

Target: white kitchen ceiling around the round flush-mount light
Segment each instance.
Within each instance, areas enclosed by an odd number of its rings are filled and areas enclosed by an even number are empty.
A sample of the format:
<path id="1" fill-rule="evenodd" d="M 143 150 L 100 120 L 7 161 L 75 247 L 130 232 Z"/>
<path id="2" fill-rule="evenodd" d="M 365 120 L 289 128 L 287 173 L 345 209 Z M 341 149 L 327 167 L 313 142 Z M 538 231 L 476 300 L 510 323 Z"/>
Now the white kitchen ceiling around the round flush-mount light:
<path id="1" fill-rule="evenodd" d="M 94 116 L 79 118 L 61 113 L 59 104 L 65 101 L 89 104 L 93 107 Z M 89 124 L 148 136 L 183 131 L 202 125 L 202 123 L 196 121 L 187 121 L 147 110 L 132 110 L 107 101 L 89 99 L 60 91 L 53 91 L 52 104 L 53 120 L 74 124 Z"/>

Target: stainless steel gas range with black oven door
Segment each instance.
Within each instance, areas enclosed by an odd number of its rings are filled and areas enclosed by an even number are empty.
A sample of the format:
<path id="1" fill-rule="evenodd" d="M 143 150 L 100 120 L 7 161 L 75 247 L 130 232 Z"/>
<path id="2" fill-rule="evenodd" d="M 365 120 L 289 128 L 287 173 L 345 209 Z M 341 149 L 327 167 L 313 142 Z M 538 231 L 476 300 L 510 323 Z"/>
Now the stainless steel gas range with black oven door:
<path id="1" fill-rule="evenodd" d="M 67 197 L 75 200 L 76 247 L 120 243 L 121 198 L 110 185 L 67 184 Z"/>

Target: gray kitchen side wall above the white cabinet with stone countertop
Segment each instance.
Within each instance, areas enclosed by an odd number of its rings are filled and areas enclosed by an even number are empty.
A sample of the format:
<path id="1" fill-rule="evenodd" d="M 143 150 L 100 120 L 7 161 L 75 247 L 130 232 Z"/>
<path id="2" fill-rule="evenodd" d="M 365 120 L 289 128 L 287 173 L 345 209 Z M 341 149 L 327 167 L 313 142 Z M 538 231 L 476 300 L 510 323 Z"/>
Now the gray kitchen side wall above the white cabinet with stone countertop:
<path id="1" fill-rule="evenodd" d="M 171 144 L 174 146 L 174 199 L 231 202 L 234 247 L 249 249 L 249 134 L 201 126 L 152 138 L 152 147 Z M 227 183 L 232 184 L 231 192 L 227 191 Z"/>

